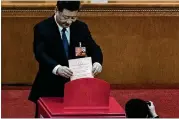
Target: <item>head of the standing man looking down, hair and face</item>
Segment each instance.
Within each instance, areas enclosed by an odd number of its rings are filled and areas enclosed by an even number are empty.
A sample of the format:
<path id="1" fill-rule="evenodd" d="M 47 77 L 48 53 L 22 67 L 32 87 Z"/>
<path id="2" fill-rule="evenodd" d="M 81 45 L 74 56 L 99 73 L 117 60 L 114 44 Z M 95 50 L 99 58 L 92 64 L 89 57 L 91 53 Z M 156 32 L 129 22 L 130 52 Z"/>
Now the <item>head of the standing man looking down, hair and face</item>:
<path id="1" fill-rule="evenodd" d="M 57 1 L 55 15 L 57 23 L 63 28 L 69 27 L 77 19 L 80 1 Z"/>

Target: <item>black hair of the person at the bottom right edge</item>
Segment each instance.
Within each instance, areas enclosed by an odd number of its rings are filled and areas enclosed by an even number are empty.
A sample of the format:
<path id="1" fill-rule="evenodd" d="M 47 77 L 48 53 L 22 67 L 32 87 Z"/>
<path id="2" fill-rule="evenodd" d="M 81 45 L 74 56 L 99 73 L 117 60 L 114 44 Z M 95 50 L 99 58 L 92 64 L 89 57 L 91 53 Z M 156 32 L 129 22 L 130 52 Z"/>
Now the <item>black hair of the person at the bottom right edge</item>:
<path id="1" fill-rule="evenodd" d="M 146 118 L 149 112 L 147 103 L 141 99 L 131 99 L 125 105 L 127 118 Z"/>

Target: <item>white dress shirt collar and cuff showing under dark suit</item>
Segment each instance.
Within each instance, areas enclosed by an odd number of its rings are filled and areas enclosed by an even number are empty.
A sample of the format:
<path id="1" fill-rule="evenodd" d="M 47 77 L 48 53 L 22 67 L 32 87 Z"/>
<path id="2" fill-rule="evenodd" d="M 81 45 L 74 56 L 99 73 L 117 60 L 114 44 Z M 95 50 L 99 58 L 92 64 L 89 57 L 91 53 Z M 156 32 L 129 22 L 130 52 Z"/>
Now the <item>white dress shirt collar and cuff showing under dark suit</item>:
<path id="1" fill-rule="evenodd" d="M 56 15 L 54 15 L 54 19 L 55 19 L 55 22 L 56 22 L 56 24 L 57 24 L 57 26 L 58 26 L 58 30 L 59 30 L 59 33 L 60 33 L 60 36 L 61 36 L 61 39 L 62 39 L 62 29 L 63 29 L 63 27 L 61 27 L 61 26 L 57 23 L 57 21 L 56 21 Z M 70 28 L 69 28 L 69 27 L 66 28 L 65 34 L 66 34 L 66 37 L 67 37 L 67 40 L 68 40 L 68 44 L 70 44 Z M 59 40 L 60 40 L 60 39 L 59 39 Z M 59 67 L 61 67 L 60 64 L 57 65 L 57 66 L 53 69 L 52 73 L 55 74 L 55 75 L 57 75 L 56 72 L 57 72 L 57 69 L 58 69 Z"/>

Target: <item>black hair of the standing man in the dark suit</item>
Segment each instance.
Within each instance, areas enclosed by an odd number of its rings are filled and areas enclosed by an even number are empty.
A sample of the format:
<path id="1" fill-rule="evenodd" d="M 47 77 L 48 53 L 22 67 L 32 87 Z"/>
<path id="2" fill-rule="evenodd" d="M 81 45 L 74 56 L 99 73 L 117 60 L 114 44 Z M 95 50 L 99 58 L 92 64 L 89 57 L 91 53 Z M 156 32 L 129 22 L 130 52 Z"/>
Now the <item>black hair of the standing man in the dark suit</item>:
<path id="1" fill-rule="evenodd" d="M 80 9 L 80 1 L 57 1 L 58 11 L 63 11 L 67 9 L 70 11 L 76 11 Z"/>

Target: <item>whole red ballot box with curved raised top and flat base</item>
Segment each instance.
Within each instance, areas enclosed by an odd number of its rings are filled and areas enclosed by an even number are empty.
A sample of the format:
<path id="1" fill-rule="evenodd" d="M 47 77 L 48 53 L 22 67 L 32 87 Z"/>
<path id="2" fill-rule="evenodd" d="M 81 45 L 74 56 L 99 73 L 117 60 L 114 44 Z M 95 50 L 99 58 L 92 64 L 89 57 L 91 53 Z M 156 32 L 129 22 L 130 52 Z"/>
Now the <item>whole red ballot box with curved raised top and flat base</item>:
<path id="1" fill-rule="evenodd" d="M 43 118 L 125 118 L 124 109 L 110 96 L 110 84 L 97 78 L 81 78 L 65 84 L 64 97 L 41 97 Z"/>

